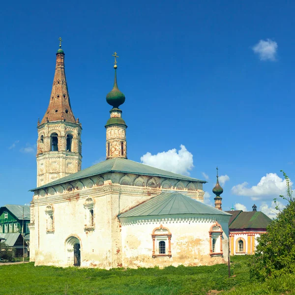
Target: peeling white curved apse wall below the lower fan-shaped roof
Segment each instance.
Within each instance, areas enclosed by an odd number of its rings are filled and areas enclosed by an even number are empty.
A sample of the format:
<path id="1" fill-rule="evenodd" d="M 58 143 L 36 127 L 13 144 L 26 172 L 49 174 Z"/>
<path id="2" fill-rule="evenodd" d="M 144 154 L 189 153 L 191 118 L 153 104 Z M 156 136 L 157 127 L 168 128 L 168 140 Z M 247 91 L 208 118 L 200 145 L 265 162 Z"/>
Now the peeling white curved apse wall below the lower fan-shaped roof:
<path id="1" fill-rule="evenodd" d="M 216 220 L 216 219 L 215 219 Z M 215 220 L 202 221 L 148 221 L 125 224 L 122 221 L 122 261 L 123 267 L 153 266 L 200 266 L 227 263 L 228 260 L 228 221 L 219 222 L 224 230 L 222 236 L 223 255 L 209 255 L 209 230 Z M 171 237 L 172 257 L 152 258 L 152 232 L 163 225 Z"/>

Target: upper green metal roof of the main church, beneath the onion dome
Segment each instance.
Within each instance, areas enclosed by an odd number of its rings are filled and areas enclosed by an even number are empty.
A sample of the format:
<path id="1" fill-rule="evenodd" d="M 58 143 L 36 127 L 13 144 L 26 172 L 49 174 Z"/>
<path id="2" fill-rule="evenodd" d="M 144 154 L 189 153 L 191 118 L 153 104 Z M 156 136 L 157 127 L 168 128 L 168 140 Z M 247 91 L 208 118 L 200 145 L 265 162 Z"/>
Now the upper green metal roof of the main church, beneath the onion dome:
<path id="1" fill-rule="evenodd" d="M 188 180 L 188 181 L 199 181 L 203 183 L 207 182 L 205 180 L 183 176 L 173 172 L 169 172 L 169 171 L 165 171 L 165 170 L 151 167 L 148 165 L 144 165 L 142 163 L 134 162 L 128 159 L 114 158 L 114 159 L 105 160 L 103 162 L 90 166 L 89 168 L 83 169 L 79 172 L 68 175 L 66 177 L 59 178 L 58 180 L 49 182 L 37 188 L 33 188 L 30 191 L 35 191 L 40 188 L 45 188 L 45 187 L 49 187 L 49 186 L 53 186 L 53 185 L 65 183 L 68 181 L 81 179 L 81 178 L 100 175 L 107 172 L 120 172 L 120 173 L 136 174 L 136 175 L 174 178 L 174 179 Z"/>

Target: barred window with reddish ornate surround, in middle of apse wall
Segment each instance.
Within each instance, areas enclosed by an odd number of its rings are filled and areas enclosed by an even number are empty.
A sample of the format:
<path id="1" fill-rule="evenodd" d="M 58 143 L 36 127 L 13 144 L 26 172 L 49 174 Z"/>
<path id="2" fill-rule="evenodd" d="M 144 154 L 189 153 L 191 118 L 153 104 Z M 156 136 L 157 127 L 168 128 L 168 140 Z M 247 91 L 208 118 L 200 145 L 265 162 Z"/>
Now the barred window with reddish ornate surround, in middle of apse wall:
<path id="1" fill-rule="evenodd" d="M 152 257 L 172 257 L 171 254 L 171 233 L 162 224 L 152 231 Z M 168 246 L 167 244 L 168 243 Z M 168 252 L 168 253 L 167 253 Z"/>

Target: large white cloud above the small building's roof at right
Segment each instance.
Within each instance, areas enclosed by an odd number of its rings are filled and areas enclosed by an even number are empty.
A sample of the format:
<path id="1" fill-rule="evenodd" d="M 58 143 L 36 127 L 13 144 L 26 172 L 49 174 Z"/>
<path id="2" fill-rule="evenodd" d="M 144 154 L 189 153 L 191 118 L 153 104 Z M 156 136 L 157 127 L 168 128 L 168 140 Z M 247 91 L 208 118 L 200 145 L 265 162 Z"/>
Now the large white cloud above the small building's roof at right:
<path id="1" fill-rule="evenodd" d="M 257 185 L 247 188 L 248 182 L 233 186 L 232 193 L 238 196 L 248 196 L 252 200 L 269 200 L 274 196 L 286 194 L 286 180 L 276 173 L 268 173 L 262 177 Z"/>

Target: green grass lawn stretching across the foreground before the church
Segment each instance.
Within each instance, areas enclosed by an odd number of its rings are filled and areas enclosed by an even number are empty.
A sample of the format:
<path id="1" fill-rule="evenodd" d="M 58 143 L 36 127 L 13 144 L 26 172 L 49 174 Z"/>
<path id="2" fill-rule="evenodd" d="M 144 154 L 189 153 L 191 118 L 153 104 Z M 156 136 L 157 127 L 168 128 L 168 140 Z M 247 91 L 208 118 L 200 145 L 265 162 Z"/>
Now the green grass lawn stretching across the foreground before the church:
<path id="1" fill-rule="evenodd" d="M 295 276 L 251 282 L 247 260 L 232 258 L 231 278 L 227 265 L 111 270 L 7 265 L 0 266 L 0 295 L 295 294 Z"/>

